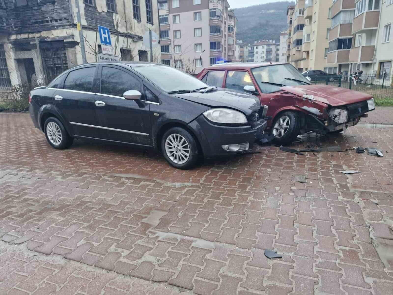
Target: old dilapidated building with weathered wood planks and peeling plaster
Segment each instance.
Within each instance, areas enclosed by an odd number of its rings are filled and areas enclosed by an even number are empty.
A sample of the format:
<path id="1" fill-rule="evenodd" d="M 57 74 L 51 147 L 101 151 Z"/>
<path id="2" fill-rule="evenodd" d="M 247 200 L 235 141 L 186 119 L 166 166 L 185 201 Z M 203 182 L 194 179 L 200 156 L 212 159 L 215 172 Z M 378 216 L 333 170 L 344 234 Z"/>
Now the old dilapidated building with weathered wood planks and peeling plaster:
<path id="1" fill-rule="evenodd" d="M 110 29 L 114 55 L 147 61 L 142 36 L 159 33 L 154 0 L 77 0 L 86 61 L 101 52 L 97 26 Z M 153 50 L 153 60 L 160 49 Z M 83 63 L 74 0 L 0 0 L 0 91 L 15 85 L 45 85 Z"/>

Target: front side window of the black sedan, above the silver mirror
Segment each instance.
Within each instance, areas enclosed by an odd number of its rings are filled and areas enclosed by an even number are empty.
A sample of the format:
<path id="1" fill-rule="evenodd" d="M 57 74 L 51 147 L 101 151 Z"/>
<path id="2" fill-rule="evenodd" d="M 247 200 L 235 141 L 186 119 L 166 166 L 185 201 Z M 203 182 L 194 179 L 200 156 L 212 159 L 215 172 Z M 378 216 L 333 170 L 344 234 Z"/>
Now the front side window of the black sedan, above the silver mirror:
<path id="1" fill-rule="evenodd" d="M 140 81 L 117 68 L 102 67 L 101 94 L 123 97 L 123 93 L 127 90 L 138 90 L 142 92 Z"/>

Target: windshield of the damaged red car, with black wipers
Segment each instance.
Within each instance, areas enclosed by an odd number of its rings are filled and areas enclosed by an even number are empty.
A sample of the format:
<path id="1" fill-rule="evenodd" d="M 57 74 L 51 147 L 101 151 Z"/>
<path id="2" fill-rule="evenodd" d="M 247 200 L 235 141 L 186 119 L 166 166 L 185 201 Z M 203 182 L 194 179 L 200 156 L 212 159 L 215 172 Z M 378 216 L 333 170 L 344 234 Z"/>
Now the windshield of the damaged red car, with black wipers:
<path id="1" fill-rule="evenodd" d="M 277 83 L 285 86 L 310 84 L 310 82 L 298 70 L 296 70 L 294 66 L 289 64 L 261 66 L 259 68 L 251 69 L 251 72 L 258 83 L 258 87 L 263 93 L 277 92 L 281 89 L 278 85 L 262 82 Z"/>

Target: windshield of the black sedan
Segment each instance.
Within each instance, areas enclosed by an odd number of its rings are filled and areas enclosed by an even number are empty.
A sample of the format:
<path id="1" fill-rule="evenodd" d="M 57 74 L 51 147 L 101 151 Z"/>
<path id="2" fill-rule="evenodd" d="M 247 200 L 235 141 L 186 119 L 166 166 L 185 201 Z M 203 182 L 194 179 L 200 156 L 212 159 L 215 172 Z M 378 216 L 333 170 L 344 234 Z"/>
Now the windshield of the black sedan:
<path id="1" fill-rule="evenodd" d="M 136 66 L 132 69 L 166 92 L 209 87 L 195 77 L 170 66 Z"/>

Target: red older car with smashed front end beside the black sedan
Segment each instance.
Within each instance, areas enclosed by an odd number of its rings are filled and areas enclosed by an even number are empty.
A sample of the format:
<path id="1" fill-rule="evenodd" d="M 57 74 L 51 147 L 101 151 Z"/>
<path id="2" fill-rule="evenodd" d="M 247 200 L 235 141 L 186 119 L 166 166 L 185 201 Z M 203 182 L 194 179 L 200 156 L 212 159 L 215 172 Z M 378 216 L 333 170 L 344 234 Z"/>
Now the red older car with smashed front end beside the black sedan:
<path id="1" fill-rule="evenodd" d="M 375 109 L 373 96 L 310 84 L 287 63 L 224 63 L 204 68 L 197 77 L 211 86 L 258 96 L 268 106 L 267 127 L 279 144 L 290 144 L 310 131 L 341 132 Z"/>

